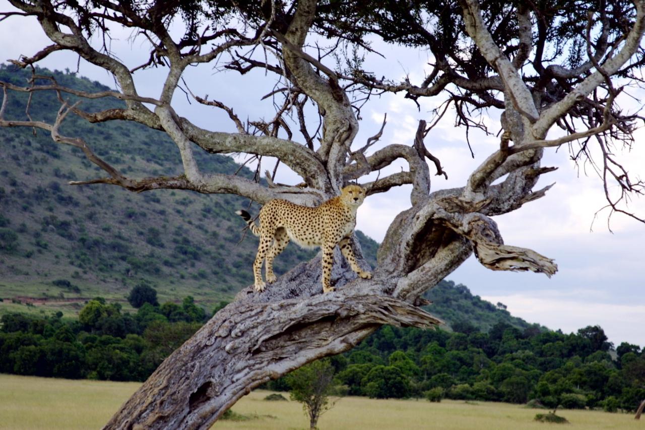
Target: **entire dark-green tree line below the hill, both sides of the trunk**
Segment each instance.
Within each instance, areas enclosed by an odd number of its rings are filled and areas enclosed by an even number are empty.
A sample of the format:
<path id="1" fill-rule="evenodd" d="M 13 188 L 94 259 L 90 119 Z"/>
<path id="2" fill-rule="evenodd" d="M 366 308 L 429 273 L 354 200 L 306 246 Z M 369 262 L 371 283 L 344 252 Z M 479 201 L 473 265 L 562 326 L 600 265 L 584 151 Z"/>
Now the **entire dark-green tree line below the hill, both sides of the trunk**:
<path id="1" fill-rule="evenodd" d="M 0 372 L 143 381 L 207 319 L 192 297 L 159 305 L 154 289 L 145 285 L 132 290 L 130 302 L 139 306 L 134 314 L 95 298 L 77 320 L 61 312 L 5 314 Z M 599 326 L 571 334 L 505 322 L 488 333 L 465 322 L 453 329 L 386 325 L 332 357 L 335 380 L 347 394 L 371 398 L 537 400 L 546 407 L 612 412 L 635 411 L 645 399 L 645 351 L 627 342 L 614 349 Z M 293 388 L 290 378 L 266 387 Z"/>

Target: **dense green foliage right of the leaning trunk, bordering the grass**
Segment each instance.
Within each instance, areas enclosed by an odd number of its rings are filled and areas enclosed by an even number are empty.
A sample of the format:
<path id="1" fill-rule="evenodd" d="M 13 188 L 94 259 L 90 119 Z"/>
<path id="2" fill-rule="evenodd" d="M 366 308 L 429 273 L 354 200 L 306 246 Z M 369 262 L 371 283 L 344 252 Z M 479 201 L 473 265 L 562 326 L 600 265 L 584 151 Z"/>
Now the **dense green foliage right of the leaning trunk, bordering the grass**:
<path id="1" fill-rule="evenodd" d="M 385 326 L 346 353 L 337 378 L 351 394 L 376 398 L 535 398 L 548 407 L 633 411 L 645 398 L 645 353 L 629 343 L 615 358 L 610 351 L 598 326 L 575 334 L 502 322 L 488 333 Z"/>

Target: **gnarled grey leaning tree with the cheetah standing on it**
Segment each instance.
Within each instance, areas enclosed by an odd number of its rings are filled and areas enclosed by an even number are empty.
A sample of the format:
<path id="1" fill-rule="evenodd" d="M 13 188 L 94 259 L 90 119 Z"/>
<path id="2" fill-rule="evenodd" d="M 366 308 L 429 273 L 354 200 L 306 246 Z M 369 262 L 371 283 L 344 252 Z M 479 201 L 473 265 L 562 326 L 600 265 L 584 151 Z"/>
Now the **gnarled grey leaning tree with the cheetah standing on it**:
<path id="1" fill-rule="evenodd" d="M 614 140 L 631 143 L 633 123 L 639 119 L 619 110 L 615 100 L 626 88 L 617 85 L 634 82 L 642 67 L 642 0 L 564 6 L 522 3 L 517 8 L 493 1 L 484 9 L 477 0 L 426 2 L 432 5 L 351 0 L 321 5 L 312 0 L 243 5 L 152 0 L 10 3 L 16 10 L 1 14 L 2 20 L 36 17 L 52 41 L 35 54 L 15 59 L 15 65 L 32 67 L 53 52 L 70 50 L 110 72 L 119 88 L 88 94 L 54 80 L 34 79 L 26 87 L 0 83 L 1 126 L 46 130 L 54 141 L 81 148 L 108 174 L 72 185 L 233 193 L 261 204 L 286 198 L 305 205 L 337 194 L 349 181 L 363 183 L 369 194 L 412 185 L 412 207 L 402 210 L 388 228 L 371 280 L 355 279 L 337 252 L 335 292 L 321 294 L 318 258 L 295 267 L 263 294 L 251 289 L 240 292 L 235 302 L 159 366 L 106 429 L 208 428 L 254 387 L 317 358 L 347 351 L 382 324 L 432 327 L 439 321 L 419 308 L 421 294 L 473 251 L 493 270 L 551 276 L 557 270 L 553 261 L 530 249 L 505 245 L 491 219 L 544 196 L 549 187 L 533 187 L 542 174 L 553 170 L 541 166 L 546 148 L 568 144 L 572 156 L 594 163 L 605 185 L 611 181 L 619 185 L 619 196 L 607 194 L 612 210 L 628 213 L 620 206 L 626 193 L 642 191 L 642 183 L 632 181 L 614 161 L 612 148 Z M 588 7 L 589 14 L 581 14 L 582 7 Z M 170 28 L 175 28 L 172 22 L 179 15 L 184 26 L 178 27 L 185 31 L 177 34 Z M 128 67 L 110 51 L 109 37 L 115 28 L 134 29 L 132 37 L 148 43 L 150 50 L 141 65 Z M 382 72 L 362 68 L 362 56 L 375 51 L 366 43 L 370 37 L 429 50 L 432 71 L 419 83 L 377 78 Z M 332 53 L 338 61 L 333 61 Z M 175 112 L 171 100 L 177 88 L 183 86 L 190 93 L 182 81 L 186 68 L 209 63 L 222 72 L 244 75 L 258 69 L 275 75 L 277 85 L 268 95 L 275 102 L 275 116 L 244 122 L 232 107 L 193 96 L 199 103 L 223 109 L 237 129 L 232 133 L 197 127 Z M 135 74 L 150 67 L 163 68 L 166 79 L 158 96 L 143 97 Z M 615 76 L 620 81 L 612 81 Z M 213 90 L 217 85 L 215 75 Z M 5 118 L 12 91 L 41 90 L 59 94 L 61 108 L 54 121 Z M 362 105 L 382 92 L 403 92 L 412 102 L 444 97 L 444 104 L 430 125 L 420 121 L 409 145 L 392 143 L 373 150 L 379 133 L 352 149 Z M 82 104 L 66 101 L 70 94 L 116 97 L 124 107 L 85 112 Z M 484 128 L 473 119 L 473 112 L 484 108 L 503 111 L 504 132 L 499 149 L 462 187 L 431 192 L 426 159 L 437 174 L 445 173 L 424 138 L 449 106 L 455 109 L 457 125 L 464 127 L 464 136 L 470 127 Z M 72 114 L 90 123 L 123 119 L 163 130 L 179 148 L 183 174 L 125 176 L 92 151 L 91 141 L 61 133 L 61 124 Z M 317 116 L 317 128 L 315 121 L 305 121 L 306 116 Z M 547 139 L 554 126 L 564 130 L 564 136 Z M 298 129 L 301 138 L 294 137 L 292 129 Z M 599 158 L 593 159 L 592 145 L 600 150 Z M 303 183 L 274 183 L 275 172 L 266 178 L 268 187 L 238 176 L 205 174 L 195 161 L 195 146 L 211 153 L 275 157 Z M 409 168 L 364 179 L 398 159 Z M 361 255 L 356 241 L 354 246 Z"/>

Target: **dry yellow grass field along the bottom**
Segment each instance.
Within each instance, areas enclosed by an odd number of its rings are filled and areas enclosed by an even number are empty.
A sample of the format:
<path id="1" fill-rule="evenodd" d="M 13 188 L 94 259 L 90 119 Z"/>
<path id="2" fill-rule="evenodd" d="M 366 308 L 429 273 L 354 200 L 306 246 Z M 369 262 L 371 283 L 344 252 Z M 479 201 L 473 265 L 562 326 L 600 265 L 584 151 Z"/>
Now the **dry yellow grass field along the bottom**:
<path id="1" fill-rule="evenodd" d="M 0 429 L 99 429 L 139 384 L 72 381 L 0 374 Z M 233 406 L 244 420 L 222 420 L 215 429 L 301 430 L 308 418 L 296 402 L 268 402 L 268 391 L 254 391 Z M 286 397 L 288 397 L 286 395 Z M 489 402 L 444 400 L 371 400 L 346 397 L 318 422 L 332 429 L 541 429 L 557 424 L 534 422 L 536 409 Z M 645 429 L 633 415 L 600 411 L 559 411 L 571 424 L 566 430 Z"/>

